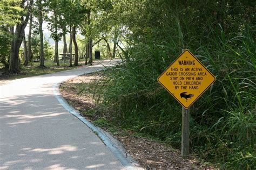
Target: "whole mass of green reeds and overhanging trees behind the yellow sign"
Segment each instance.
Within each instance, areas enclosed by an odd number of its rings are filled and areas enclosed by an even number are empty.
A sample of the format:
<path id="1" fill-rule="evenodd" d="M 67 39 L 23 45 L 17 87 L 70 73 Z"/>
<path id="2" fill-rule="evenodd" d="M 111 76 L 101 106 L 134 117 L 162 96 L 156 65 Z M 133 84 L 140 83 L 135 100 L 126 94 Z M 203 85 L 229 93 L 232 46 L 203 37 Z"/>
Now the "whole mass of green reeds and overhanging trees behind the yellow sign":
<path id="1" fill-rule="evenodd" d="M 255 168 L 255 11 L 251 1 L 118 1 L 123 62 L 96 82 L 115 122 L 180 147 L 181 106 L 157 82 L 188 48 L 217 76 L 191 108 L 191 151 L 221 168 Z M 97 88 L 102 87 L 102 88 Z"/>

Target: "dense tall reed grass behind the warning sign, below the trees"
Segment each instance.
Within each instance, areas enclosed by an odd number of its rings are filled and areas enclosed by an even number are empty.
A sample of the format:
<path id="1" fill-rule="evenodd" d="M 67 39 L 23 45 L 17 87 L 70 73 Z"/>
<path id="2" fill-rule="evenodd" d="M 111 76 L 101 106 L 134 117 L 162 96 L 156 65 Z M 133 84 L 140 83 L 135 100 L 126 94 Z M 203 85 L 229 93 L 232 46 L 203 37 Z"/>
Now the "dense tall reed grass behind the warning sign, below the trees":
<path id="1" fill-rule="evenodd" d="M 178 36 L 168 37 L 169 41 L 127 48 L 123 62 L 95 82 L 95 97 L 118 125 L 180 148 L 181 105 L 157 77 L 182 48 L 190 48 L 217 77 L 191 108 L 191 153 L 221 168 L 254 169 L 256 27 L 226 38 L 220 26 L 220 31 L 212 30 L 213 36 L 204 37 L 204 44 L 198 37 L 186 41 L 179 24 L 177 28 Z"/>

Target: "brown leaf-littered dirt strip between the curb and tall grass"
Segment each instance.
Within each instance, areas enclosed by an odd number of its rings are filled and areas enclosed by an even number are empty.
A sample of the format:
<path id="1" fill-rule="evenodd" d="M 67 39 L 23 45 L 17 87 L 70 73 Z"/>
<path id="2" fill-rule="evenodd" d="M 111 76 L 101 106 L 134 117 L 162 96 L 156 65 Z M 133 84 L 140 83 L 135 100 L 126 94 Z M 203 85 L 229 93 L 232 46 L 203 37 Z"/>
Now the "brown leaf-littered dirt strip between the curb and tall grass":
<path id="1" fill-rule="evenodd" d="M 97 110 L 97 105 L 93 102 L 90 93 L 78 95 L 79 90 L 77 88 L 81 86 L 81 83 L 89 83 L 95 79 L 98 79 L 97 73 L 78 76 L 75 79 L 62 83 L 60 92 L 72 107 L 79 110 L 82 114 L 88 110 Z M 90 114 L 89 116 L 87 114 L 83 115 L 90 122 L 104 116 L 100 113 Z M 108 128 L 103 129 L 111 133 Z M 197 159 L 181 158 L 180 151 L 175 150 L 171 146 L 134 136 L 133 132 L 122 133 L 122 129 L 117 128 L 117 130 L 119 132 L 112 133 L 114 138 L 118 139 L 134 160 L 139 162 L 145 169 L 211 169 L 210 166 L 204 165 Z"/>

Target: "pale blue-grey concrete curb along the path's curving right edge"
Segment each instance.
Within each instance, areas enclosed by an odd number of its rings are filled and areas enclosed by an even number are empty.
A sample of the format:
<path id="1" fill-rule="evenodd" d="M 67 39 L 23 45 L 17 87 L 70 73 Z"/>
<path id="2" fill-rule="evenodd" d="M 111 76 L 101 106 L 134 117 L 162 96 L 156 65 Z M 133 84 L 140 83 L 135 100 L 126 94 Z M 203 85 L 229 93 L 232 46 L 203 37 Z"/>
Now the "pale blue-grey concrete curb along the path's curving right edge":
<path id="1" fill-rule="evenodd" d="M 94 70 L 90 73 L 97 72 L 98 70 Z M 86 73 L 89 74 L 89 73 Z M 83 75 L 83 74 L 82 74 Z M 78 75 L 79 76 L 79 75 Z M 66 80 L 65 80 L 66 81 Z M 121 162 L 121 164 L 126 169 L 144 169 L 139 166 L 139 164 L 133 160 L 131 155 L 127 154 L 122 144 L 119 143 L 118 140 L 114 139 L 109 133 L 104 130 L 96 127 L 91 122 L 87 121 L 85 117 L 80 115 L 79 111 L 71 107 L 71 105 L 66 102 L 64 97 L 59 92 L 59 86 L 62 82 L 56 83 L 53 88 L 53 94 L 57 98 L 60 104 L 68 110 L 73 116 L 77 117 L 80 121 L 82 121 L 85 125 L 87 125 L 93 132 L 95 132 L 98 137 L 103 141 L 103 143 L 111 150 L 114 156 Z"/>

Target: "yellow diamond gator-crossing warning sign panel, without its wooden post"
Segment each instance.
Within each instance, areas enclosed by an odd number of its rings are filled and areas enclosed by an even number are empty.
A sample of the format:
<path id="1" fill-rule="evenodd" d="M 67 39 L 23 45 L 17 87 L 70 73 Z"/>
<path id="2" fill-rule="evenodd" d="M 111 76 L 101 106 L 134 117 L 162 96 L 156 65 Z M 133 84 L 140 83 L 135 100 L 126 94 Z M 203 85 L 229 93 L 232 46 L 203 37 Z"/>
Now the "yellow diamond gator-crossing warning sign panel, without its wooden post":
<path id="1" fill-rule="evenodd" d="M 188 109 L 216 78 L 190 51 L 185 50 L 157 80 Z"/>

